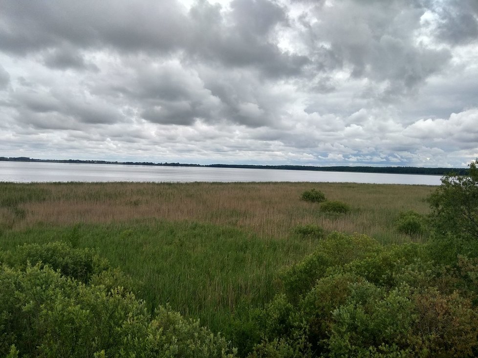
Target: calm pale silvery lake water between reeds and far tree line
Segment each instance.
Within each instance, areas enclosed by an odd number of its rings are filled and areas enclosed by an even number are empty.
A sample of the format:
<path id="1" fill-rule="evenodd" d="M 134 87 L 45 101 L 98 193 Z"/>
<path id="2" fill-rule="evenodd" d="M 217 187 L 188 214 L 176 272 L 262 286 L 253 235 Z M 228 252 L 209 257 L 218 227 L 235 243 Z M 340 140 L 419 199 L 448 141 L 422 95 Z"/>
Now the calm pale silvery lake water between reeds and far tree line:
<path id="1" fill-rule="evenodd" d="M 303 170 L 0 161 L 0 181 L 310 181 L 440 185 L 440 176 Z"/>

